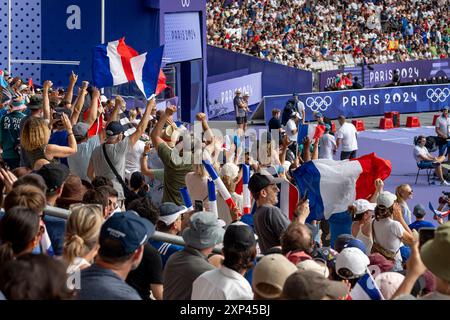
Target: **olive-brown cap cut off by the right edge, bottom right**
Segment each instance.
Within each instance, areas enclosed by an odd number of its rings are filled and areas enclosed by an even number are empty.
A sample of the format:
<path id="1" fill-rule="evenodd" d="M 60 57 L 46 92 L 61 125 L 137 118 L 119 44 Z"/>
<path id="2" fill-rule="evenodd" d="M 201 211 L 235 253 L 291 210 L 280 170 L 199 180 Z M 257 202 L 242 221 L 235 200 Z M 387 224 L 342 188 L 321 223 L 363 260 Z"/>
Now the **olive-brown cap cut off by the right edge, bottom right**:
<path id="1" fill-rule="evenodd" d="M 434 233 L 434 239 L 425 242 L 420 249 L 424 265 L 435 276 L 450 282 L 450 221 L 441 224 Z"/>

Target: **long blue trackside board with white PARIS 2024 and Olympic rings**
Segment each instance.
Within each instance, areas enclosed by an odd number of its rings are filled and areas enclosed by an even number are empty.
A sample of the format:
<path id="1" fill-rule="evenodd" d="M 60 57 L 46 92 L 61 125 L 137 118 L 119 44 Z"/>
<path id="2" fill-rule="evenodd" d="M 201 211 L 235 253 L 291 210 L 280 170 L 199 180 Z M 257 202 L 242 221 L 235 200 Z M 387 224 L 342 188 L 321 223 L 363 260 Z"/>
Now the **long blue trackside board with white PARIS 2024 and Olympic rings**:
<path id="1" fill-rule="evenodd" d="M 290 95 L 264 97 L 265 122 L 269 121 L 272 109 L 283 109 L 290 98 Z M 305 104 L 308 121 L 313 120 L 317 111 L 331 119 L 341 114 L 357 118 L 388 111 L 427 112 L 450 104 L 450 84 L 318 92 L 300 94 L 299 98 Z"/>

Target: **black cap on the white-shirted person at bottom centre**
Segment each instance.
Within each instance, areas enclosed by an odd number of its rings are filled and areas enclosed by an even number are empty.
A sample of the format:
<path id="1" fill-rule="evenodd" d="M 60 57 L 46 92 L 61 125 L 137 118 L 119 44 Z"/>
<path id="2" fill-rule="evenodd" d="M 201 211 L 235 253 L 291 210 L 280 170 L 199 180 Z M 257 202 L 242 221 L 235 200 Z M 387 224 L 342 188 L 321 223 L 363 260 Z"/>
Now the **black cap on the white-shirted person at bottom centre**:
<path id="1" fill-rule="evenodd" d="M 245 224 L 230 224 L 223 236 L 223 247 L 240 251 L 256 246 L 255 234 Z"/>

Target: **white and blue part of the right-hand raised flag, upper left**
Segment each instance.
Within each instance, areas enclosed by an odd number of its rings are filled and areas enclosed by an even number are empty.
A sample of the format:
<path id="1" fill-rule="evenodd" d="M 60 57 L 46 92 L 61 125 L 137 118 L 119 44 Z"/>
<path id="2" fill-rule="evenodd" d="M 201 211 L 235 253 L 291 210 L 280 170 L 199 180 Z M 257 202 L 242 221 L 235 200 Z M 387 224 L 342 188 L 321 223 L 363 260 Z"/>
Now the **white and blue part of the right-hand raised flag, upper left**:
<path id="1" fill-rule="evenodd" d="M 160 46 L 152 50 L 150 54 L 146 52 L 131 58 L 134 81 L 136 81 L 136 85 L 147 100 L 149 100 L 152 95 L 156 96 L 158 94 L 156 89 L 161 73 L 163 52 L 164 46 Z"/>

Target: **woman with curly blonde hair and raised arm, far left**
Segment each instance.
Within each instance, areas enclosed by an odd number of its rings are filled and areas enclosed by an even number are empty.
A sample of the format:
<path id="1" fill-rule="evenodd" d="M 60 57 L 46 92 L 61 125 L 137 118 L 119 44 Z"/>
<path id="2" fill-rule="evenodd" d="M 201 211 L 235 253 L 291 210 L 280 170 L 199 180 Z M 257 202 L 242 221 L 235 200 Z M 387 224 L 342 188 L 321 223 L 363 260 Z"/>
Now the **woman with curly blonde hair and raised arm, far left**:
<path id="1" fill-rule="evenodd" d="M 30 117 L 25 121 L 20 134 L 20 144 L 32 169 L 38 170 L 43 165 L 54 162 L 55 158 L 66 158 L 77 152 L 77 141 L 66 114 L 61 114 L 61 121 L 67 131 L 68 147 L 48 143 L 51 131 L 44 119 Z"/>

